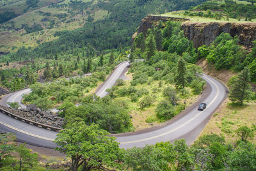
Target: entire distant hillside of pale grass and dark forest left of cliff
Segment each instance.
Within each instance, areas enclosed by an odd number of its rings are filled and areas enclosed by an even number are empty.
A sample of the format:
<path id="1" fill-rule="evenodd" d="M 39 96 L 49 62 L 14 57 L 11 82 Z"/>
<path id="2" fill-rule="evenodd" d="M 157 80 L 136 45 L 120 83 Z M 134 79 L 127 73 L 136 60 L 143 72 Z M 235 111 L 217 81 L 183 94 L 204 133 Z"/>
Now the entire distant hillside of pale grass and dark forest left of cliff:
<path id="1" fill-rule="evenodd" d="M 70 49 L 67 40 L 69 44 L 72 43 L 72 48 L 83 47 L 87 43 L 97 47 L 99 51 L 117 48 L 120 44 L 126 47 L 140 20 L 148 13 L 186 10 L 204 1 L 60 1 L 4 22 L 0 28 L 0 51 L 13 52 L 20 47 L 34 48 L 45 41 L 56 40 L 58 36 L 61 36 L 58 41 L 40 45 L 36 50 L 36 54 L 40 54 L 37 57 L 45 56 L 42 51 L 47 46 L 56 46 L 57 52 L 63 51 L 58 49 L 60 44 Z M 74 29 L 76 30 L 70 31 Z M 56 32 L 63 30 L 68 32 Z"/>

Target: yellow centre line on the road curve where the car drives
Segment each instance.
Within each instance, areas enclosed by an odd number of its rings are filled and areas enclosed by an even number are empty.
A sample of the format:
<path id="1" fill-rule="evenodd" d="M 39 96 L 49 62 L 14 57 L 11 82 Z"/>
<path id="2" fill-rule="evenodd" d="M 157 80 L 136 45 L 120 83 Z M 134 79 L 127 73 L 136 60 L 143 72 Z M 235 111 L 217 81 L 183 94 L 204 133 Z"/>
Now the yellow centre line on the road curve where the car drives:
<path id="1" fill-rule="evenodd" d="M 206 77 L 204 77 L 204 78 L 206 78 Z M 212 82 L 212 80 L 210 80 L 209 78 L 206 78 L 206 79 L 209 80 L 210 82 Z M 208 105 L 208 108 L 209 108 L 209 107 L 212 105 L 212 103 L 216 100 L 216 98 L 218 97 L 218 94 L 219 94 L 219 88 L 218 88 L 218 86 L 217 86 L 214 82 L 212 82 L 212 84 L 214 84 L 215 87 L 217 88 L 217 93 L 216 93 L 216 96 L 214 97 L 214 99 L 213 99 L 213 100 L 211 101 L 211 103 Z M 128 142 L 120 142 L 120 144 L 131 144 L 131 143 L 135 143 L 135 142 L 142 142 L 142 141 L 152 140 L 152 139 L 154 139 L 154 138 L 162 137 L 162 136 L 167 135 L 167 134 L 169 134 L 169 133 L 172 133 L 173 131 L 176 131 L 176 130 L 178 130 L 179 128 L 181 128 L 181 127 L 185 126 L 186 124 L 190 123 L 191 121 L 193 121 L 194 119 L 196 119 L 196 117 L 198 117 L 200 114 L 202 114 L 204 111 L 205 111 L 205 110 L 203 110 L 202 112 L 199 112 L 198 114 L 195 115 L 195 117 L 189 119 L 189 121 L 187 121 L 187 122 L 184 123 L 184 124 L 181 124 L 180 126 L 174 128 L 173 130 L 167 131 L 167 132 L 162 133 L 162 134 L 160 134 L 160 135 L 156 135 L 156 136 L 154 136 L 154 137 L 143 138 L 143 139 L 140 139 L 140 140 L 134 140 L 134 141 L 128 141 Z"/>

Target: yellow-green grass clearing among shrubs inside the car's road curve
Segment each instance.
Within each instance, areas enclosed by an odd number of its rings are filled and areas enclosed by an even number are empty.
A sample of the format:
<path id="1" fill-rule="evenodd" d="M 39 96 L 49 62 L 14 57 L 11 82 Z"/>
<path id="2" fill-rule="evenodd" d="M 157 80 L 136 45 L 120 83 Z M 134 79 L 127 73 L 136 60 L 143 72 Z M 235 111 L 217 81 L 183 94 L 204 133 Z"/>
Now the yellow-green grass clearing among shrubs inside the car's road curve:
<path id="1" fill-rule="evenodd" d="M 126 75 L 126 77 L 128 78 L 132 78 L 132 74 L 128 74 Z M 146 89 L 148 90 L 148 94 L 150 96 L 154 96 L 155 98 L 155 102 L 150 105 L 150 107 L 145 107 L 143 109 L 140 108 L 140 104 L 139 101 L 145 96 L 141 96 L 138 101 L 136 102 L 132 102 L 131 98 L 129 96 L 125 96 L 125 97 L 117 97 L 115 98 L 115 100 L 124 100 L 127 102 L 127 105 L 129 107 L 129 111 L 130 111 L 130 115 L 132 116 L 132 124 L 135 128 L 135 130 L 142 130 L 143 128 L 149 128 L 152 126 L 156 126 L 158 124 L 161 124 L 161 121 L 157 118 L 156 116 L 156 108 L 157 108 L 157 104 L 166 99 L 163 97 L 163 89 L 164 87 L 168 87 L 168 86 L 173 86 L 170 85 L 168 83 L 164 83 L 163 81 L 163 86 L 159 87 L 159 82 L 160 80 L 152 80 L 150 77 L 148 78 L 148 82 L 150 83 L 145 83 L 145 84 L 137 84 L 134 87 L 138 90 L 140 89 Z M 125 84 L 122 86 L 119 86 L 118 89 L 122 89 L 124 87 L 128 88 L 130 87 L 130 82 L 131 80 L 126 80 Z M 189 107 L 190 105 L 192 105 L 193 103 L 195 103 L 195 101 L 198 98 L 198 95 L 194 95 L 193 93 L 191 93 L 191 89 L 190 88 L 186 88 L 188 90 L 188 96 L 186 96 L 186 98 L 179 98 L 178 104 L 179 106 L 177 108 L 175 108 L 175 114 L 179 114 L 180 110 L 183 109 L 183 107 Z M 186 105 L 184 105 L 184 102 L 186 103 Z"/>

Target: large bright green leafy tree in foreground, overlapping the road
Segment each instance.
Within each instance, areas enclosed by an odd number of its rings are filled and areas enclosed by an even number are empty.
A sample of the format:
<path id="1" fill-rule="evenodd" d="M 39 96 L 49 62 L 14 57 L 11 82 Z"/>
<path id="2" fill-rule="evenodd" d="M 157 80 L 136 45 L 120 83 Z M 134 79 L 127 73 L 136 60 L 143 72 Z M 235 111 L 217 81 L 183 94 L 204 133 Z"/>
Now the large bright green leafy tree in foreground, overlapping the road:
<path id="1" fill-rule="evenodd" d="M 106 167 L 121 166 L 123 151 L 118 147 L 115 137 L 108 137 L 108 132 L 99 126 L 73 123 L 61 131 L 54 140 L 56 150 L 65 152 L 72 159 L 72 170 L 104 170 Z"/>

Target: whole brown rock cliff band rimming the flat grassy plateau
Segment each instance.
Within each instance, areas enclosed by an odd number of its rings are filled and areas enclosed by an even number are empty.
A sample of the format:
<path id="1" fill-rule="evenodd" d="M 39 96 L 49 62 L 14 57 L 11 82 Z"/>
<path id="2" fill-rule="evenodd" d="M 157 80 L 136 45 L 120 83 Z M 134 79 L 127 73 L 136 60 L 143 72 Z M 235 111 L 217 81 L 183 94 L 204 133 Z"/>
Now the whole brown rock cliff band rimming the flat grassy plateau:
<path id="1" fill-rule="evenodd" d="M 236 23 L 236 22 L 191 22 L 189 19 L 165 17 L 159 15 L 147 15 L 141 20 L 138 31 L 132 36 L 132 41 L 138 33 L 147 33 L 152 24 L 157 24 L 159 20 L 181 21 L 182 30 L 185 36 L 193 41 L 196 48 L 202 45 L 210 45 L 221 33 L 229 33 L 231 36 L 239 37 L 239 44 L 246 48 L 252 47 L 252 41 L 256 40 L 256 23 Z"/>

